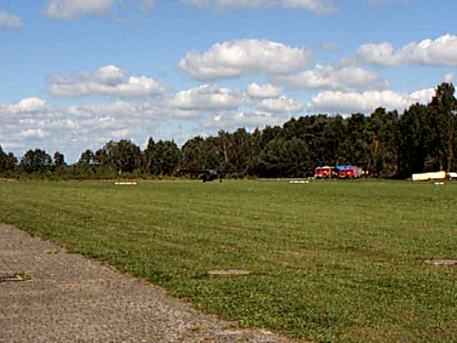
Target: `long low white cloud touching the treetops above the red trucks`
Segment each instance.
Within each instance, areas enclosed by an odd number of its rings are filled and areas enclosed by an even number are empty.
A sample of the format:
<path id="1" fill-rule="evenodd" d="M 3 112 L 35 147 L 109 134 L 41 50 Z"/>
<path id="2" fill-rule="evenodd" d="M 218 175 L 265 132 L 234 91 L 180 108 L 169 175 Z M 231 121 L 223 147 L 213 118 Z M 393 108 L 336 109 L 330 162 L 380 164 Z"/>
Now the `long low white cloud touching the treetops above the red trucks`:
<path id="1" fill-rule="evenodd" d="M 422 89 L 410 94 L 395 91 L 365 91 L 363 93 L 344 91 L 323 91 L 308 102 L 308 112 L 330 114 L 371 113 L 382 106 L 388 110 L 406 109 L 416 102 L 427 104 L 435 90 Z"/>

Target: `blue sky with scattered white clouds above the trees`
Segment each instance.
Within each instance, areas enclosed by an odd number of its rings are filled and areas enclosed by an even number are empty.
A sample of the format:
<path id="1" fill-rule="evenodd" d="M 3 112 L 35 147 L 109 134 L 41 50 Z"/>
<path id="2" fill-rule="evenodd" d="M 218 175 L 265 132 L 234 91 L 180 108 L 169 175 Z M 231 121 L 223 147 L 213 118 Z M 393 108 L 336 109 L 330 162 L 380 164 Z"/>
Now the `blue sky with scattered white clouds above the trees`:
<path id="1" fill-rule="evenodd" d="M 4 0 L 0 145 L 75 161 L 315 113 L 402 111 L 457 72 L 455 1 Z"/>

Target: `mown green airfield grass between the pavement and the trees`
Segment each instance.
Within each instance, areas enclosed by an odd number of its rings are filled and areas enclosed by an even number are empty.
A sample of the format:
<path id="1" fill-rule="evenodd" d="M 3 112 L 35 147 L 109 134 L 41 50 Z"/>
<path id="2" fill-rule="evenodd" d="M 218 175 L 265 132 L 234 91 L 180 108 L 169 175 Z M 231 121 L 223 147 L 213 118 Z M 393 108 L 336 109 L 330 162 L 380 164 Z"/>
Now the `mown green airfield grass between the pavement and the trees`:
<path id="1" fill-rule="evenodd" d="M 0 222 L 241 327 L 311 342 L 455 342 L 457 267 L 423 260 L 457 258 L 456 197 L 450 182 L 4 182 Z"/>

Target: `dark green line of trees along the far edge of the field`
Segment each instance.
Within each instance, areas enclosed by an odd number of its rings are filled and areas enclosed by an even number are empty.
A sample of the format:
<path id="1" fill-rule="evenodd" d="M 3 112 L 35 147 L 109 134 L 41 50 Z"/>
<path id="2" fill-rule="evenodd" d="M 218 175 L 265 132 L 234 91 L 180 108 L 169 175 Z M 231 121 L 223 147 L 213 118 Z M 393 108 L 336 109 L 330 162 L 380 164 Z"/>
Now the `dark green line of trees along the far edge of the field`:
<path id="1" fill-rule="evenodd" d="M 253 177 L 307 177 L 316 166 L 354 164 L 386 178 L 413 173 L 457 170 L 457 100 L 453 84 L 443 83 L 427 105 L 413 104 L 402 114 L 382 107 L 370 115 L 318 114 L 292 118 L 283 126 L 252 132 L 221 130 L 217 136 L 196 136 L 179 148 L 171 141 L 154 141 L 146 149 L 132 141 L 109 141 L 87 149 L 79 161 L 66 164 L 30 149 L 19 160 L 0 146 L 0 175 L 106 179 L 168 177 L 179 169 L 244 169 Z"/>

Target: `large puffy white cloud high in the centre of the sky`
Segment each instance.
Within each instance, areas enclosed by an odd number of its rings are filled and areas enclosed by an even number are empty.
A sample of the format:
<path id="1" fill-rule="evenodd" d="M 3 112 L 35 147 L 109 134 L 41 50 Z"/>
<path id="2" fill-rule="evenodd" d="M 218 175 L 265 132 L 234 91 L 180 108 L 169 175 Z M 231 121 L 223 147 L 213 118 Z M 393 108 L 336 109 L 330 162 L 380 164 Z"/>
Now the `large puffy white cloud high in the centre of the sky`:
<path id="1" fill-rule="evenodd" d="M 243 74 L 290 74 L 312 60 L 310 49 L 266 39 L 242 39 L 216 43 L 203 54 L 189 52 L 179 67 L 195 79 L 216 80 Z"/>

